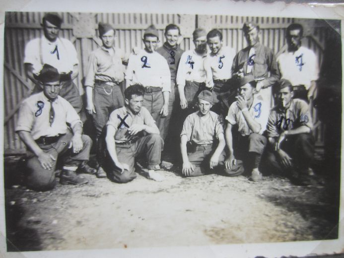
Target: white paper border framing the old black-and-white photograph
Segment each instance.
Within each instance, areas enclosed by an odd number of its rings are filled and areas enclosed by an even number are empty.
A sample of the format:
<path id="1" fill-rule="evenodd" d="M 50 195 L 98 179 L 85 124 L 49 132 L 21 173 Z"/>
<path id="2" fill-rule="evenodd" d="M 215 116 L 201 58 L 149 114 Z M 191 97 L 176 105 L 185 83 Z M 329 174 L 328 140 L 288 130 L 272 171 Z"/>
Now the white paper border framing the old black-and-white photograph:
<path id="1" fill-rule="evenodd" d="M 156 2 L 155 2 L 156 1 Z M 344 53 L 344 5 L 309 5 L 285 4 L 284 2 L 233 2 L 229 0 L 77 0 L 69 2 L 59 0 L 19 0 L 15 2 L 0 1 L 1 39 L 0 59 L 3 61 L 3 32 L 4 11 L 63 11 L 63 12 L 137 12 L 137 13 L 181 13 L 181 14 L 224 14 L 247 16 L 252 15 L 248 10 L 255 10 L 253 16 L 279 16 L 295 18 L 327 18 L 342 20 L 342 55 Z M 101 4 L 100 4 L 101 2 Z M 343 60 L 343 56 L 342 56 Z M 342 65 L 342 74 L 343 74 Z M 3 81 L 3 66 L 1 66 L 0 80 Z M 2 100 L 6 98 L 1 91 Z M 342 95 L 343 102 L 343 95 Z M 4 104 L 1 102 L 3 111 Z M 3 112 L 1 112 L 3 120 Z M 343 114 L 342 114 L 343 120 Z M 343 135 L 342 127 L 342 135 Z M 1 157 L 3 157 L 3 129 L 1 130 Z M 344 146 L 342 137 L 342 146 Z M 343 166 L 343 160 L 341 160 Z M 2 173 L 3 175 L 3 173 Z M 342 173 L 343 176 L 343 173 Z M 133 248 L 133 249 L 106 249 L 106 250 L 74 250 L 74 251 L 40 251 L 6 253 L 5 222 L 4 222 L 4 191 L 3 176 L 0 179 L 0 256 L 4 257 L 281 257 L 306 256 L 310 254 L 335 254 L 344 252 L 344 225 L 343 225 L 343 191 L 340 202 L 340 226 L 338 240 L 288 242 L 269 244 L 233 244 L 209 245 L 202 247 L 168 247 L 168 248 Z M 341 180 L 343 190 L 343 180 Z M 274 229 L 272 229 L 274 230 Z"/>

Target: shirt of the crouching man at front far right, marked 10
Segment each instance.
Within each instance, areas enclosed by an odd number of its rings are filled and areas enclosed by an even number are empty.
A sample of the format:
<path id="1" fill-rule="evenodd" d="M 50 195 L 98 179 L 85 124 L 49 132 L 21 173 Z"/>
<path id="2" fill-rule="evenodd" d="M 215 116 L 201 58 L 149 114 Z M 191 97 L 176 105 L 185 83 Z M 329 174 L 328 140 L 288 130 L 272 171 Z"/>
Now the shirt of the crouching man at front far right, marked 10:
<path id="1" fill-rule="evenodd" d="M 306 126 L 313 128 L 308 104 L 301 99 L 292 99 L 288 108 L 275 107 L 269 115 L 268 137 L 277 137 L 283 131 Z"/>

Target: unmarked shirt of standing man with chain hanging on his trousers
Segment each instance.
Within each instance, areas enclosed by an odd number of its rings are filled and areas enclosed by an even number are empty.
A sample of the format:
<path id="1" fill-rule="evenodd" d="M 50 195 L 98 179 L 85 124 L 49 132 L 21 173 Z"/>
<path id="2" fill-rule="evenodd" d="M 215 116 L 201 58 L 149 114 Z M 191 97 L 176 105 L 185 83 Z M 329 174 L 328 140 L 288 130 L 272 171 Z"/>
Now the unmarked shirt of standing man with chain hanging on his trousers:
<path id="1" fill-rule="evenodd" d="M 113 55 L 105 47 L 94 50 L 88 58 L 85 86 L 94 86 L 94 80 L 122 82 L 124 80 L 125 53 L 119 48 L 112 48 Z"/>

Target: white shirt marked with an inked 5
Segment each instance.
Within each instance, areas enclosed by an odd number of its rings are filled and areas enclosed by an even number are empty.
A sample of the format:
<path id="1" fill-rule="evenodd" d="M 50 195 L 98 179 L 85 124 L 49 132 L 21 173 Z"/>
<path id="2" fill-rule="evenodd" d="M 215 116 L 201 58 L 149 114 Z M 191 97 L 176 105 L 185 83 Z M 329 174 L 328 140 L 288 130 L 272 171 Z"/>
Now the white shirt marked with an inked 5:
<path id="1" fill-rule="evenodd" d="M 231 68 L 235 50 L 230 47 L 222 47 L 217 54 L 211 52 L 207 55 L 206 61 L 210 64 L 212 79 L 225 80 L 231 78 Z"/>

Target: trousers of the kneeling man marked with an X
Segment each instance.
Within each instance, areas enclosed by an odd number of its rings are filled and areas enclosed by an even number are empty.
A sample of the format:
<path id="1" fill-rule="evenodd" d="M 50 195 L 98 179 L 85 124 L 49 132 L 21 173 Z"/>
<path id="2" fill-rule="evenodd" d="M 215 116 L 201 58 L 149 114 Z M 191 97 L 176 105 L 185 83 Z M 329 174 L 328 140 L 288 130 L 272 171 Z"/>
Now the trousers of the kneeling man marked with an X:
<path id="1" fill-rule="evenodd" d="M 154 169 L 156 165 L 160 164 L 161 150 L 163 147 L 163 140 L 157 133 L 148 134 L 140 137 L 135 142 L 116 143 L 116 153 L 118 160 L 121 163 L 128 164 L 129 171 L 124 170 L 121 174 L 113 163 L 111 157 L 107 155 L 107 165 L 110 165 L 111 170 L 110 179 L 116 183 L 128 183 L 136 178 L 135 174 L 135 158 L 144 156 L 147 160 L 147 169 Z"/>

